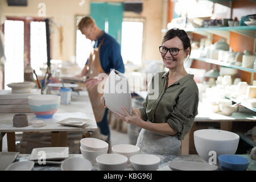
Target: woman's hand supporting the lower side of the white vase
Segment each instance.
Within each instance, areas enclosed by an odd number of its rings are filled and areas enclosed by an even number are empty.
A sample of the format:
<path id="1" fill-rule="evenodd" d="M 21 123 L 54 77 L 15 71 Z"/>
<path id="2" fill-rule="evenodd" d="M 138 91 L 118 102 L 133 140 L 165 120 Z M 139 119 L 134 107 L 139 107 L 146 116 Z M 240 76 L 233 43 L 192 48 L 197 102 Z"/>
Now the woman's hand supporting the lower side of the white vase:
<path id="1" fill-rule="evenodd" d="M 143 122 L 141 116 L 137 113 L 137 111 L 135 111 L 135 109 L 132 109 L 131 115 L 129 115 L 125 107 L 121 106 L 121 109 L 125 112 L 125 116 L 119 113 L 115 113 L 115 115 L 123 121 L 136 126 L 139 126 L 139 124 Z"/>

